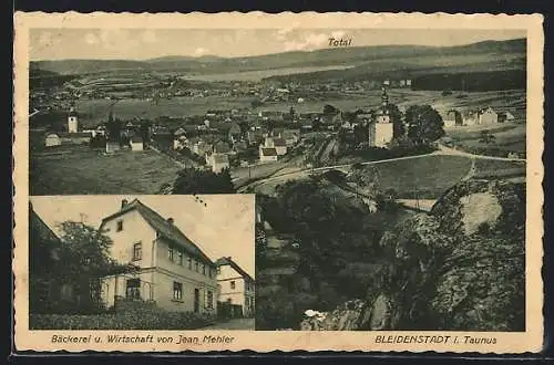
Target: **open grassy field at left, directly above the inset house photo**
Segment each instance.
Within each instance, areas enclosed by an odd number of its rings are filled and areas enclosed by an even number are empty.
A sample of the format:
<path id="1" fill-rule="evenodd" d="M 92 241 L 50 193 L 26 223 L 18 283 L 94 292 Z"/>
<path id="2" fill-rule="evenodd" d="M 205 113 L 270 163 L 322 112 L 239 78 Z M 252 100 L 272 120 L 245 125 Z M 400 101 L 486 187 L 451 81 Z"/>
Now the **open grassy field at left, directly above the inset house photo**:
<path id="1" fill-rule="evenodd" d="M 153 150 L 103 156 L 88 147 L 34 156 L 31 164 L 31 195 L 157 194 L 181 169 Z"/>

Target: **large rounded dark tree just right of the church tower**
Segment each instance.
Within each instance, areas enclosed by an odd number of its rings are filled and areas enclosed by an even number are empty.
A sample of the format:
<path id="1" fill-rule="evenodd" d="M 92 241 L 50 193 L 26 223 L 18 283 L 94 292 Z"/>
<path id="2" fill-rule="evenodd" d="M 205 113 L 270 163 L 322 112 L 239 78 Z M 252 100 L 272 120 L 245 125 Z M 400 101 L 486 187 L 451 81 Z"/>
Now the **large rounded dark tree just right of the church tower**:
<path id="1" fill-rule="evenodd" d="M 430 105 L 412 105 L 406 111 L 408 137 L 418 145 L 428 145 L 444 136 L 444 122 Z"/>

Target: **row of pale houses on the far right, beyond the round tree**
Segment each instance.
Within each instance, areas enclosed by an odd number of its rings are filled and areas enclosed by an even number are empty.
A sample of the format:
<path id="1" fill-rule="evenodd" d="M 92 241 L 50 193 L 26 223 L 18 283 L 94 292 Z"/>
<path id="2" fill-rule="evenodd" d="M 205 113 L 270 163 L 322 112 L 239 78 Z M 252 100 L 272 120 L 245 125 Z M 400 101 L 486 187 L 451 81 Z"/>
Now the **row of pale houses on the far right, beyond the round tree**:
<path id="1" fill-rule="evenodd" d="M 511 112 L 499 111 L 490 106 L 480 109 L 439 109 L 439 114 L 441 114 L 444 127 L 447 128 L 471 125 L 491 125 L 514 122 L 516 119 Z"/>

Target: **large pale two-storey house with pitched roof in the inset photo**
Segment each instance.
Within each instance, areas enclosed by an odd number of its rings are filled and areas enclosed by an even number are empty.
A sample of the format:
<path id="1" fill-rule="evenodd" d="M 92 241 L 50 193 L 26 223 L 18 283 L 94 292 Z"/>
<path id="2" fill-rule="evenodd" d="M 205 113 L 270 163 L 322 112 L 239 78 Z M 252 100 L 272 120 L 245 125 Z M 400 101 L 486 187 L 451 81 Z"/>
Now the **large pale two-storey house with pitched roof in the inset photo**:
<path id="1" fill-rule="evenodd" d="M 167 311 L 216 313 L 216 267 L 173 219 L 164 219 L 138 200 L 102 220 L 113 244 L 110 254 L 137 272 L 102 279 L 106 306 L 117 299 L 154 301 Z"/>

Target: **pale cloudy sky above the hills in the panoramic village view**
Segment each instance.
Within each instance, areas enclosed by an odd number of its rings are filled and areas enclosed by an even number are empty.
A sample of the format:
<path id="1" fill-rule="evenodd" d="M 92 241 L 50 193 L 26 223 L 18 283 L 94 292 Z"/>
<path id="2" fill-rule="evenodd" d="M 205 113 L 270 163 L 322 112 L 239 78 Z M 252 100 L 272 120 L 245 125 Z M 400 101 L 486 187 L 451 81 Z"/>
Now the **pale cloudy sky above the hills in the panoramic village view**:
<path id="1" fill-rule="evenodd" d="M 32 29 L 30 59 L 146 60 L 167 55 L 225 58 L 329 48 L 329 38 L 365 45 L 461 45 L 525 38 L 525 30 L 431 29 Z"/>

